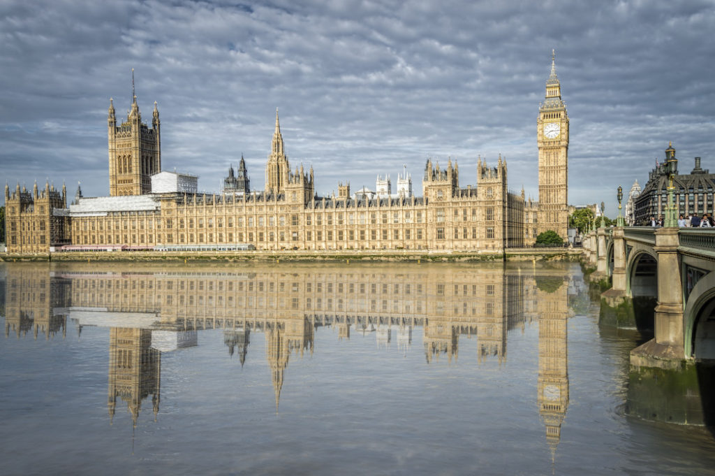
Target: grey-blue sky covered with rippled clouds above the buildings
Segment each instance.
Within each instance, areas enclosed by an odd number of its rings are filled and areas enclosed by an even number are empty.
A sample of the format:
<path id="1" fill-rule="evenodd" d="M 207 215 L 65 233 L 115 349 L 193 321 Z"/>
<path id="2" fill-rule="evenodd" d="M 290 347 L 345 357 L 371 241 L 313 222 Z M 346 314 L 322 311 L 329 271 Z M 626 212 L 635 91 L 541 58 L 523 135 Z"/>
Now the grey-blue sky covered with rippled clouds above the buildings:
<path id="1" fill-rule="evenodd" d="M 643 184 L 673 141 L 715 170 L 713 1 L 0 1 L 0 178 L 108 195 L 107 107 L 162 120 L 164 170 L 262 190 L 275 108 L 317 193 L 480 155 L 538 198 L 536 118 L 556 49 L 569 203 Z M 394 187 L 394 185 L 393 185 Z M 4 196 L 1 199 L 4 201 Z M 610 212 L 609 212 L 610 210 Z"/>

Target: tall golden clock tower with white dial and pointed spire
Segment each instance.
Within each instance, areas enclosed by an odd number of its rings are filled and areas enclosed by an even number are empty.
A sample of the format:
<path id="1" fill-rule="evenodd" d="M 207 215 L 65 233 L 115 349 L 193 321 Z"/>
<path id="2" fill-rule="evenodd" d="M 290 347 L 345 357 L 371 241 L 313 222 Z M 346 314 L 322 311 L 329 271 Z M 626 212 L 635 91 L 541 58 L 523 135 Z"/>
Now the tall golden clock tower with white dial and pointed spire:
<path id="1" fill-rule="evenodd" d="M 551 52 L 551 74 L 538 120 L 538 233 L 554 230 L 566 239 L 568 228 L 568 114 Z M 533 238 L 533 237 L 531 237 Z"/>

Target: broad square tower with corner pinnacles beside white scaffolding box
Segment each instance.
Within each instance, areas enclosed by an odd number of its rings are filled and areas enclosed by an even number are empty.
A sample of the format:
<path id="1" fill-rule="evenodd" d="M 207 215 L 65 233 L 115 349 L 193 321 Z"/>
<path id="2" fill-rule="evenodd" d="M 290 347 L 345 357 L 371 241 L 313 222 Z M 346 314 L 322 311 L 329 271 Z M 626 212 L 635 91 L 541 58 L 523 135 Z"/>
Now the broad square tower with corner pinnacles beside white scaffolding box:
<path id="1" fill-rule="evenodd" d="M 151 193 L 151 176 L 162 170 L 159 110 L 154 102 L 152 127 L 142 122 L 134 94 L 132 69 L 132 107 L 127 120 L 117 125 L 114 101 L 109 99 L 107 132 L 109 136 L 109 195 Z"/>

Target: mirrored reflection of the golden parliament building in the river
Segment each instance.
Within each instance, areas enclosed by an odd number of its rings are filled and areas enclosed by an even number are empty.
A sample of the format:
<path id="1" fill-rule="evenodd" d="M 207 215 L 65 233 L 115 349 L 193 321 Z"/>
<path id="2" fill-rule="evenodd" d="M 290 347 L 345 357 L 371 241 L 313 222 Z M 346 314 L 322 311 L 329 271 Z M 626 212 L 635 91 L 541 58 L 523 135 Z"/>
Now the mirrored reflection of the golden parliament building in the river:
<path id="1" fill-rule="evenodd" d="M 507 358 L 507 333 L 538 321 L 538 407 L 553 452 L 568 407 L 569 293 L 563 271 L 509 266 L 200 268 L 107 265 L 10 265 L 5 335 L 64 336 L 68 320 L 110 328 L 108 407 L 126 402 L 134 426 L 142 401 L 159 412 L 162 353 L 198 343 L 203 329 L 222 329 L 231 358 L 245 364 L 252 333 L 265 335 L 276 410 L 290 356 L 314 350 L 315 331 L 337 327 L 375 335 L 378 349 L 393 339 L 406 354 L 413 329 L 423 329 L 428 364 L 456 361 L 460 337 L 475 339 L 477 361 Z M 571 278 L 573 281 L 573 278 Z"/>

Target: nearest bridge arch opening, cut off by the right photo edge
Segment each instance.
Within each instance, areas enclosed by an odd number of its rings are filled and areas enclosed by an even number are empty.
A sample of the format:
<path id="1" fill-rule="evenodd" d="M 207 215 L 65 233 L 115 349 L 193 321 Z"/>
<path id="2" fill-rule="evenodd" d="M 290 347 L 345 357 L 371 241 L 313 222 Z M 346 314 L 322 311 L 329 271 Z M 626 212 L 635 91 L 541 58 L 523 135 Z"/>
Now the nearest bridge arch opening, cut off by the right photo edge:
<path id="1" fill-rule="evenodd" d="M 715 272 L 693 286 L 684 312 L 685 355 L 715 361 Z"/>

